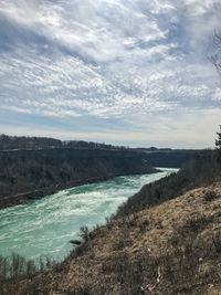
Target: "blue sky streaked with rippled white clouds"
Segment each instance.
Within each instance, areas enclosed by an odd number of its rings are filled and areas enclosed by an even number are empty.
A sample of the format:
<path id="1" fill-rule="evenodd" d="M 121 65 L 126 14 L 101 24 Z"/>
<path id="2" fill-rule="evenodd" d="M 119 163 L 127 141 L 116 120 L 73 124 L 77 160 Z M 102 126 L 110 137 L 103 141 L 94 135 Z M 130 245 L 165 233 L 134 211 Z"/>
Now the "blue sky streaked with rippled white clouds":
<path id="1" fill-rule="evenodd" d="M 209 148 L 220 0 L 0 0 L 0 134 Z"/>

